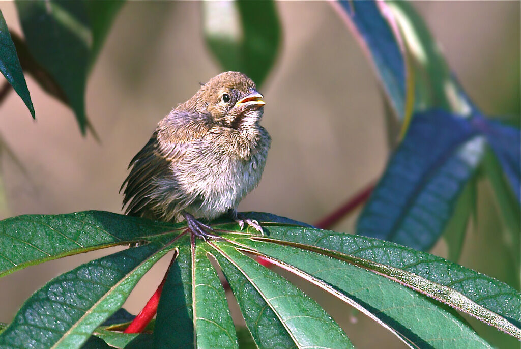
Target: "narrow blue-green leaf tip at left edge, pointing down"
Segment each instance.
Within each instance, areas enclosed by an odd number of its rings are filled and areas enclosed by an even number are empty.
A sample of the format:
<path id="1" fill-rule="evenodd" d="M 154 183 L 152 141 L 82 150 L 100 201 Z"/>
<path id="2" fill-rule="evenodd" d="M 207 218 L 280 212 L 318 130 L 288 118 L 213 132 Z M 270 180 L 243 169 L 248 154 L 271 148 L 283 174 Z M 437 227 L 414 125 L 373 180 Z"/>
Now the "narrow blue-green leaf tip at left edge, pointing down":
<path id="1" fill-rule="evenodd" d="M 4 74 L 6 80 L 13 86 L 16 93 L 22 98 L 26 104 L 33 119 L 34 107 L 32 105 L 31 96 L 27 89 L 26 79 L 23 77 L 22 67 L 16 54 L 15 44 L 11 39 L 7 24 L 5 22 L 2 11 L 0 11 L 0 71 Z"/>

